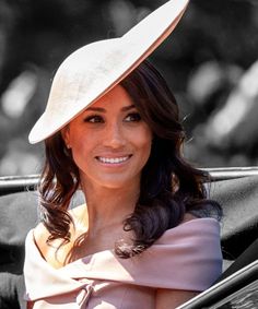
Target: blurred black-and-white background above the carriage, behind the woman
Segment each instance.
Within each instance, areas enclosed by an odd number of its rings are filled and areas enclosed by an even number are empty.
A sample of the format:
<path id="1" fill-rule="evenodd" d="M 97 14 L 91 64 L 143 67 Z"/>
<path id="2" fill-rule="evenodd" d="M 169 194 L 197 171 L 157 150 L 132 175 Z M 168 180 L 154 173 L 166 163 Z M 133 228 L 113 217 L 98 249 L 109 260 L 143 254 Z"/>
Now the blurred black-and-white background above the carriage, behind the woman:
<path id="1" fill-rule="evenodd" d="M 27 135 L 60 62 L 122 35 L 164 2 L 0 0 L 0 176 L 40 171 L 43 144 Z M 192 164 L 258 164 L 258 1 L 191 0 L 150 60 L 178 100 Z"/>

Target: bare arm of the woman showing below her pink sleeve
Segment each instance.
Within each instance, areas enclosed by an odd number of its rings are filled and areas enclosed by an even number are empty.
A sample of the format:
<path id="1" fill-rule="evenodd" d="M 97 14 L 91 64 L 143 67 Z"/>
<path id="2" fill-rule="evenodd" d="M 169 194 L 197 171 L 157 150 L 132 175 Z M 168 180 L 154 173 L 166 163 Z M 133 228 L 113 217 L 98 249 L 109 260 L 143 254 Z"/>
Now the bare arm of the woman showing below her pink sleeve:
<path id="1" fill-rule="evenodd" d="M 198 292 L 160 288 L 156 292 L 155 309 L 174 309 L 196 295 Z"/>

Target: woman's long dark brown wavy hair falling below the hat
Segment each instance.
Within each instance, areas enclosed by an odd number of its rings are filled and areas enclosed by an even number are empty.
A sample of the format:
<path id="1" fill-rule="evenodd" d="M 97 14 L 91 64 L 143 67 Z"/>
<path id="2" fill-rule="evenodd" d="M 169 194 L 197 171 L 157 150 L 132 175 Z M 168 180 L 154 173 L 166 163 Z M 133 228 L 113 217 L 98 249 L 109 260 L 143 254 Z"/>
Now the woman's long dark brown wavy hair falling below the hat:
<path id="1" fill-rule="evenodd" d="M 124 229 L 131 230 L 134 238 L 131 243 L 115 243 L 118 257 L 130 258 L 180 224 L 186 213 L 219 219 L 222 211 L 218 202 L 207 197 L 209 174 L 183 157 L 185 132 L 178 106 L 161 73 L 145 60 L 120 85 L 153 133 L 151 155 L 141 175 L 140 197 L 133 213 L 124 222 Z M 45 141 L 45 148 L 39 183 L 43 223 L 50 233 L 49 241 L 62 238 L 64 243 L 70 240 L 73 221 L 68 209 L 80 187 L 80 175 L 60 132 Z"/>

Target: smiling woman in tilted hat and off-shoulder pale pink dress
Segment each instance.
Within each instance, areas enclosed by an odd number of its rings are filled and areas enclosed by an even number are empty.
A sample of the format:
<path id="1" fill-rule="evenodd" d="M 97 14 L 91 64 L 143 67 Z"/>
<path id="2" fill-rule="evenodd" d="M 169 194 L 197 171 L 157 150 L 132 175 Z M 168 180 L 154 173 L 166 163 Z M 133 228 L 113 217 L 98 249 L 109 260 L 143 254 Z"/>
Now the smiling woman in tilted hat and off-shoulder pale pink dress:
<path id="1" fill-rule="evenodd" d="M 61 66 L 30 135 L 45 140 L 46 164 L 42 223 L 26 240 L 28 307 L 176 308 L 221 273 L 220 206 L 181 156 L 177 104 L 146 54 L 92 100 L 87 50 Z M 85 202 L 69 210 L 78 189 Z"/>

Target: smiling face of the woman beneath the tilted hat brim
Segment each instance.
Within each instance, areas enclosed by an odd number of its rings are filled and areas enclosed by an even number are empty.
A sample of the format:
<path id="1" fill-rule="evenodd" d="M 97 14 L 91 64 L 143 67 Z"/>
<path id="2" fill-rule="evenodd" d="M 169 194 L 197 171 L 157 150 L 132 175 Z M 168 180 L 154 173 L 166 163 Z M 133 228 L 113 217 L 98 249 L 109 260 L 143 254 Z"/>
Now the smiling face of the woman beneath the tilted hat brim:
<path id="1" fill-rule="evenodd" d="M 85 185 L 115 189 L 140 183 L 152 132 L 120 85 L 72 120 L 62 136 Z"/>

